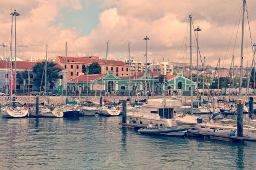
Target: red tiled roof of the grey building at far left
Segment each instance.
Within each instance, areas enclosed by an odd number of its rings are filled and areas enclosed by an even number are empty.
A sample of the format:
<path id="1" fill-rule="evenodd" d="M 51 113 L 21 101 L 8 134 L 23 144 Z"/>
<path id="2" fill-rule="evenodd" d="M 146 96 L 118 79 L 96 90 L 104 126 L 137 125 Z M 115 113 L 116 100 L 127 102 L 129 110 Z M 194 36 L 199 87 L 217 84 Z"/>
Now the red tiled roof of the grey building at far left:
<path id="1" fill-rule="evenodd" d="M 16 61 L 16 68 L 17 69 L 33 69 L 34 65 L 38 63 L 38 62 L 34 62 L 34 61 Z M 0 61 L 0 68 L 9 68 L 11 62 L 9 63 L 8 61 Z M 59 64 L 55 63 L 55 67 L 63 69 Z M 13 62 L 13 68 L 15 67 L 15 62 Z"/>

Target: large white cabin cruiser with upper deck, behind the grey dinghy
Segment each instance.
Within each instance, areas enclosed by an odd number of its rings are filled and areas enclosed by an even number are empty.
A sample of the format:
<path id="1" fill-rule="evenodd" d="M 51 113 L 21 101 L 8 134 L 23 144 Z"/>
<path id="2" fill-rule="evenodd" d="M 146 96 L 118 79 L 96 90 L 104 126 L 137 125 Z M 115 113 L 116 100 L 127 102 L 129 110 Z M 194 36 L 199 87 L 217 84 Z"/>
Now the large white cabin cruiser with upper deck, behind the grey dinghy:
<path id="1" fill-rule="evenodd" d="M 146 105 L 141 106 L 138 111 L 127 112 L 127 122 L 149 125 L 156 127 L 176 126 L 175 113 L 180 108 L 182 102 L 172 99 L 151 99 Z"/>

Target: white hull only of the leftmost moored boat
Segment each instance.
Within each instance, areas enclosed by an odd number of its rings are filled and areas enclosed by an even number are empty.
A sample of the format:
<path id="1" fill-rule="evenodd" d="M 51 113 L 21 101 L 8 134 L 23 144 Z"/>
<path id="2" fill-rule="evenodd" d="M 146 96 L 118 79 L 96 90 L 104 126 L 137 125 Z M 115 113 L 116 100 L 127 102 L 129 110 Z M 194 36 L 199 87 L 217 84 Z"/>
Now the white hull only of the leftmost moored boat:
<path id="1" fill-rule="evenodd" d="M 24 109 L 24 107 L 16 107 L 13 110 L 8 109 L 7 107 L 1 108 L 1 114 L 3 117 L 20 118 L 27 116 L 28 112 L 29 111 Z"/>

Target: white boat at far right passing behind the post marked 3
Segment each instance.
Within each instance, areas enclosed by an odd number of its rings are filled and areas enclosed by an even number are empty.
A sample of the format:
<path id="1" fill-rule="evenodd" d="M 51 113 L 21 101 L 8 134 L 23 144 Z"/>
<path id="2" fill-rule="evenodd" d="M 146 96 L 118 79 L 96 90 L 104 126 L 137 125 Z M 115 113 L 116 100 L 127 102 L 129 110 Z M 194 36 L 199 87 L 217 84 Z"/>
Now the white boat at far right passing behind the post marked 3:
<path id="1" fill-rule="evenodd" d="M 251 140 L 256 140 L 256 128 L 244 125 L 244 136 L 249 136 Z M 195 125 L 196 130 L 203 132 L 216 132 L 230 135 L 237 131 L 237 121 L 227 118 L 222 113 L 214 113 L 210 116 L 209 122 L 202 122 Z"/>

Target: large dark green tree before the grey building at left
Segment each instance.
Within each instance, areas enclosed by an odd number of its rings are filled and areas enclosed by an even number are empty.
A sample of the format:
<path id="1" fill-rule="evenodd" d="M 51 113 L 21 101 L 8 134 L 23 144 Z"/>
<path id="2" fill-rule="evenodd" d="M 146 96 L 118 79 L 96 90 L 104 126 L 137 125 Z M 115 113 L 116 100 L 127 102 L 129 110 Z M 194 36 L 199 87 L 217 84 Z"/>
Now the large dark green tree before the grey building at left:
<path id="1" fill-rule="evenodd" d="M 59 78 L 59 72 L 61 71 L 60 68 L 55 66 L 54 62 L 47 62 L 47 82 L 50 83 L 52 86 L 55 86 L 55 82 Z M 33 72 L 35 73 L 34 83 L 37 84 L 39 87 L 45 84 L 45 62 L 36 63 L 33 67 Z"/>

